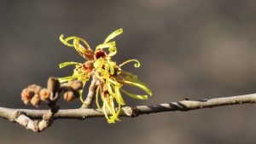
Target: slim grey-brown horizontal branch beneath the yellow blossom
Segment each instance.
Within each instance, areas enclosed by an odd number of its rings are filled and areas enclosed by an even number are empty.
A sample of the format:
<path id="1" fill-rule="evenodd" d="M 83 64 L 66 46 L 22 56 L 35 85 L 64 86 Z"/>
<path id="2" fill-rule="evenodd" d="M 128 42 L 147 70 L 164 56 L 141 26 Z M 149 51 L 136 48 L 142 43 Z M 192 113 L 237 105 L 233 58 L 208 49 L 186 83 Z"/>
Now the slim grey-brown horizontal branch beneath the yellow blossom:
<path id="1" fill-rule="evenodd" d="M 178 101 L 178 102 L 164 103 L 164 104 L 153 105 L 153 106 L 122 107 L 120 116 L 134 118 L 142 114 L 150 114 L 150 113 L 157 113 L 157 112 L 176 112 L 176 111 L 187 112 L 187 111 L 197 110 L 201 108 L 230 106 L 230 105 L 245 104 L 245 103 L 249 103 L 249 104 L 256 103 L 256 94 L 238 95 L 238 96 L 221 97 L 221 98 L 213 98 L 213 99 L 203 99 L 199 101 Z M 38 132 L 42 130 L 37 130 L 38 128 L 33 126 L 35 124 L 37 125 L 37 122 L 33 121 L 32 119 L 41 119 L 41 118 L 44 119 L 44 115 L 47 112 L 48 112 L 47 110 L 14 109 L 14 108 L 0 107 L 1 118 L 9 119 L 9 121 L 21 124 L 23 126 L 26 125 L 26 129 L 31 129 Z M 93 109 L 93 108 L 66 109 L 66 110 L 59 110 L 54 115 L 52 115 L 52 118 L 54 119 L 58 119 L 58 118 L 85 119 L 85 118 L 97 118 L 97 117 L 104 117 L 104 113 L 102 112 L 101 109 Z M 21 121 L 20 119 L 23 119 L 23 120 Z"/>

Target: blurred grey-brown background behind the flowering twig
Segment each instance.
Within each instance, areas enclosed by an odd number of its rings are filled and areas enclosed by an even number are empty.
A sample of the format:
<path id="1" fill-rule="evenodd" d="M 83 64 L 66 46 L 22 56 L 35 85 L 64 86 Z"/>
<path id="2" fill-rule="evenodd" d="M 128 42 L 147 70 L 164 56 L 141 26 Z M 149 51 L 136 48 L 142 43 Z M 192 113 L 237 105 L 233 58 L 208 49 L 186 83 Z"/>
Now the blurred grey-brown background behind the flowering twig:
<path id="1" fill-rule="evenodd" d="M 255 14 L 253 0 L 0 0 L 0 106 L 33 108 L 20 101 L 21 89 L 70 75 L 72 68 L 58 68 L 63 61 L 83 61 L 60 43 L 61 34 L 95 47 L 120 27 L 114 59 L 140 60 L 139 69 L 125 69 L 154 92 L 148 101 L 125 97 L 131 106 L 254 93 Z M 79 106 L 61 101 L 63 108 Z M 1 119 L 0 143 L 255 143 L 255 109 L 162 112 L 116 124 L 57 120 L 39 134 Z"/>

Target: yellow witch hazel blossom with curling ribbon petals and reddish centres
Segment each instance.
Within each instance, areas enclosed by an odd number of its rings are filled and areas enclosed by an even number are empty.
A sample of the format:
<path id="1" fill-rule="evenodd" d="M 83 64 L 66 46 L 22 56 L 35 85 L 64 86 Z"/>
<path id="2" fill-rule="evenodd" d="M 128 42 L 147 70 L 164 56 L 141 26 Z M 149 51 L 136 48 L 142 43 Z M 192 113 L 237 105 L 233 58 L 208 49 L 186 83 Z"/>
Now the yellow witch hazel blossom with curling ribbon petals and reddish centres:
<path id="1" fill-rule="evenodd" d="M 98 108 L 102 108 L 105 117 L 108 119 L 108 123 L 119 121 L 118 116 L 121 111 L 121 106 L 125 105 L 125 101 L 123 100 L 120 92 L 131 96 L 132 98 L 141 100 L 146 100 L 148 99 L 148 95 L 152 95 L 148 86 L 138 81 L 136 75 L 131 74 L 131 72 L 125 72 L 121 69 L 122 66 L 129 62 L 136 62 L 134 66 L 139 67 L 140 62 L 138 60 L 126 60 L 120 65 L 117 65 L 116 62 L 112 60 L 112 56 L 117 53 L 115 41 L 112 41 L 112 39 L 121 33 L 123 33 L 122 29 L 112 32 L 102 44 L 96 46 L 95 51 L 90 49 L 90 45 L 83 38 L 64 38 L 63 35 L 60 37 L 62 43 L 69 47 L 73 47 L 79 52 L 79 55 L 86 59 L 84 63 L 73 61 L 61 63 L 60 68 L 71 65 L 74 65 L 75 68 L 72 76 L 59 78 L 60 82 L 67 83 L 73 80 L 80 80 L 85 85 L 86 82 L 90 80 L 91 76 L 96 75 L 96 78 L 100 83 L 96 87 L 96 106 Z M 125 89 L 122 89 L 124 84 L 129 84 L 143 89 L 148 93 L 148 95 L 131 94 Z M 82 93 L 83 90 L 80 91 L 80 100 L 84 102 Z M 99 102 L 99 97 L 102 102 Z M 102 103 L 102 105 L 100 105 L 100 103 Z M 111 113 L 110 116 L 108 115 L 108 112 Z"/>

